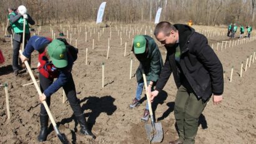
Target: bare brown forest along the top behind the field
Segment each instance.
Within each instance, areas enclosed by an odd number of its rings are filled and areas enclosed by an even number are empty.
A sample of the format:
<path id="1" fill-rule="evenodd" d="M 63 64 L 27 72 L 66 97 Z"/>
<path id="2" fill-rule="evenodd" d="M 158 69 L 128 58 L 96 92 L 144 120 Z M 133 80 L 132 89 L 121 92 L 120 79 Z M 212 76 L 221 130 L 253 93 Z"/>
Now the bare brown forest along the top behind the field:
<path id="1" fill-rule="evenodd" d="M 105 0 L 103 21 L 124 24 L 154 22 L 162 7 L 160 21 L 187 22 L 206 26 L 230 22 L 256 26 L 255 0 Z M 102 0 L 0 0 L 0 22 L 6 22 L 7 8 L 21 4 L 36 24 L 96 21 Z"/>

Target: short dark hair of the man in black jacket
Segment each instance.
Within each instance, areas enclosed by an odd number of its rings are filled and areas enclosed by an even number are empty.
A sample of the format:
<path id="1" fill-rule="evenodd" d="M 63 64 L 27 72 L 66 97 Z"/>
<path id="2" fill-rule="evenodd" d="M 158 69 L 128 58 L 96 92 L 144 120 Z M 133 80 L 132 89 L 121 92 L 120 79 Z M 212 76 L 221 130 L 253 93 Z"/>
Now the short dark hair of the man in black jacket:
<path id="1" fill-rule="evenodd" d="M 176 32 L 177 29 L 172 24 L 170 24 L 170 22 L 162 21 L 159 22 L 157 26 L 155 26 L 154 35 L 157 36 L 159 32 L 164 32 L 165 36 L 169 36 L 170 31 Z"/>

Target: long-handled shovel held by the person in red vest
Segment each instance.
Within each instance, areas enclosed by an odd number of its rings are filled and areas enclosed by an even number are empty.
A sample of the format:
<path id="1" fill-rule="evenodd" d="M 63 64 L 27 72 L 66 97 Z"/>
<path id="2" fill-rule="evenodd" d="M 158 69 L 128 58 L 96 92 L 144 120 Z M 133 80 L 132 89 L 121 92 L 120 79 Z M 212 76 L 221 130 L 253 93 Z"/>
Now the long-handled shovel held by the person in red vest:
<path id="1" fill-rule="evenodd" d="M 22 50 L 19 50 L 19 54 L 22 54 Z M 38 84 L 36 82 L 36 79 L 35 79 L 33 73 L 32 73 L 32 70 L 29 67 L 29 63 L 27 61 L 25 61 L 24 63 L 26 65 L 26 67 L 27 67 L 27 70 L 29 71 L 29 75 L 31 76 L 31 79 L 34 82 L 34 85 L 36 87 L 37 93 L 39 95 L 42 95 L 42 92 L 41 92 L 41 90 L 40 90 L 40 88 L 39 88 L 39 86 L 38 86 Z M 64 135 L 63 133 L 59 132 L 59 129 L 57 128 L 56 122 L 54 121 L 54 118 L 52 117 L 52 113 L 49 110 L 49 107 L 48 107 L 46 101 L 45 100 L 42 101 L 42 104 L 44 104 L 44 107 L 46 108 L 47 114 L 49 115 L 49 118 L 50 118 L 50 120 L 52 122 L 53 128 L 54 128 L 55 132 L 57 133 L 57 137 L 59 137 L 59 140 L 61 140 L 61 143 L 69 144 L 69 141 L 67 140 L 66 135 Z"/>

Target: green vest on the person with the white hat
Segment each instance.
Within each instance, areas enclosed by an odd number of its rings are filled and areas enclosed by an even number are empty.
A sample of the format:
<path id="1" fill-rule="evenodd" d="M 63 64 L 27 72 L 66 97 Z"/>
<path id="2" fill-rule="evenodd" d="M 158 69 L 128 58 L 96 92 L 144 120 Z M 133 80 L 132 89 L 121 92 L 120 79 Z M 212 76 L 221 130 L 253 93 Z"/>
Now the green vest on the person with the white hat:
<path id="1" fill-rule="evenodd" d="M 15 12 L 11 12 L 11 14 L 13 16 L 16 16 Z M 11 26 L 12 26 L 12 29 L 15 33 L 22 33 L 23 32 L 23 22 L 24 22 L 23 17 L 20 17 L 19 20 L 14 22 L 14 23 L 10 22 Z M 29 24 L 27 23 L 27 21 L 26 21 L 26 24 L 25 24 L 25 29 L 26 29 L 25 33 L 29 34 Z"/>

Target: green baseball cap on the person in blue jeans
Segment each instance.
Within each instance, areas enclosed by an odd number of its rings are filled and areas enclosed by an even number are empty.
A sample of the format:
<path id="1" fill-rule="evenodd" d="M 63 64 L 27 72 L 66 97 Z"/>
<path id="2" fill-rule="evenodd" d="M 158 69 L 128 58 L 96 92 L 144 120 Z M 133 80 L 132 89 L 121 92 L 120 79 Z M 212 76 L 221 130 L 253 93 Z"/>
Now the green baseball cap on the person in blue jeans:
<path id="1" fill-rule="evenodd" d="M 145 52 L 146 40 L 142 35 L 134 37 L 134 54 L 143 54 Z"/>

